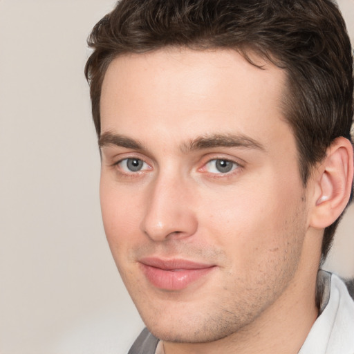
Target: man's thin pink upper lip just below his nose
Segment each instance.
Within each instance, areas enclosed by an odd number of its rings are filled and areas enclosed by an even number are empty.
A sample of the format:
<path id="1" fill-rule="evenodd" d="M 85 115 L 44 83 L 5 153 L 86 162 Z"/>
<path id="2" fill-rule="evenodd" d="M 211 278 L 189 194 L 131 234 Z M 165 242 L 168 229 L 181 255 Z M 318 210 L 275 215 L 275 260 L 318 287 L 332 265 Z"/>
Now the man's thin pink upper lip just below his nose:
<path id="1" fill-rule="evenodd" d="M 145 257 L 139 261 L 144 265 L 160 268 L 162 270 L 193 270 L 212 268 L 214 266 L 214 264 L 199 263 L 195 261 L 189 261 L 188 259 L 160 259 L 157 257 Z"/>

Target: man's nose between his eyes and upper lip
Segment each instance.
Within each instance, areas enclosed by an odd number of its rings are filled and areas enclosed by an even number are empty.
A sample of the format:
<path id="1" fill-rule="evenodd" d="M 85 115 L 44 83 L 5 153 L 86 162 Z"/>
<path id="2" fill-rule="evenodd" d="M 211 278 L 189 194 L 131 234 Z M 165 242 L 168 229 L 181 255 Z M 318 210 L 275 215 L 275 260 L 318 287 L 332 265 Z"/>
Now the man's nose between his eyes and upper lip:
<path id="1" fill-rule="evenodd" d="M 153 241 L 192 236 L 198 222 L 192 207 L 192 193 L 183 178 L 159 176 L 147 194 L 142 231 Z"/>

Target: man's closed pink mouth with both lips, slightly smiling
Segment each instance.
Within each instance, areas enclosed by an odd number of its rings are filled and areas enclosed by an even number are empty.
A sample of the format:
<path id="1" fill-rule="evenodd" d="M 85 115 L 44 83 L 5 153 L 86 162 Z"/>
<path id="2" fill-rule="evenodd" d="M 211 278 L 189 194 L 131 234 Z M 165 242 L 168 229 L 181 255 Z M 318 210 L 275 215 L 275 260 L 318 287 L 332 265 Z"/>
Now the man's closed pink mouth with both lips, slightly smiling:
<path id="1" fill-rule="evenodd" d="M 140 259 L 140 268 L 147 280 L 156 288 L 163 290 L 183 290 L 201 280 L 216 265 L 196 263 L 185 259 Z"/>

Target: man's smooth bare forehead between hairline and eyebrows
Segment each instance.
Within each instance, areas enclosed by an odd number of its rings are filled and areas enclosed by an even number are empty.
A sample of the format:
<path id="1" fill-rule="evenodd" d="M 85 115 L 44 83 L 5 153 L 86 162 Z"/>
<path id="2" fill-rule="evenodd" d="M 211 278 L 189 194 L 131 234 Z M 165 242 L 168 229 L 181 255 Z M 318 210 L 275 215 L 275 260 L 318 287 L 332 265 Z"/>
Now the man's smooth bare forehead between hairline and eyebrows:
<path id="1" fill-rule="evenodd" d="M 111 62 L 102 84 L 102 132 L 144 140 L 160 131 L 172 140 L 205 133 L 241 133 L 274 139 L 284 129 L 281 98 L 286 74 L 234 50 L 167 48 Z M 269 134 L 268 134 L 269 133 Z"/>

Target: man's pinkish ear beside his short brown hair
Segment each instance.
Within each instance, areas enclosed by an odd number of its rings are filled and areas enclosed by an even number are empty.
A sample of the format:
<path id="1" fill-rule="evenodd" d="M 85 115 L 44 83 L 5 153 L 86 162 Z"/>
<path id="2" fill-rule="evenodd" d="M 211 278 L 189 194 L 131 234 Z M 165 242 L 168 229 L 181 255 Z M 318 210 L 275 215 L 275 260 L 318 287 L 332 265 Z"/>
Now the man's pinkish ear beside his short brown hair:
<path id="1" fill-rule="evenodd" d="M 328 147 L 326 158 L 315 174 L 310 226 L 324 229 L 332 224 L 348 204 L 353 183 L 353 146 L 343 137 Z"/>

